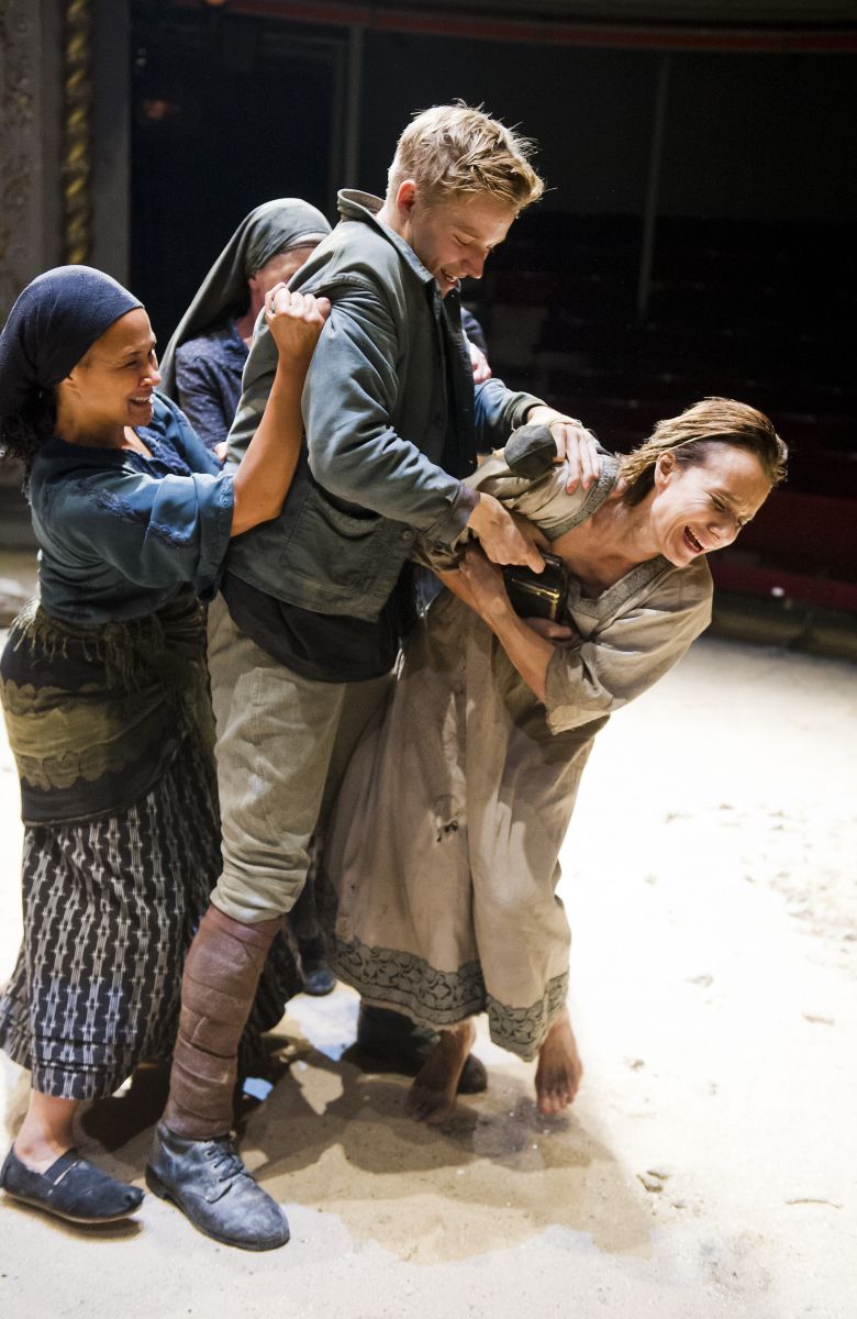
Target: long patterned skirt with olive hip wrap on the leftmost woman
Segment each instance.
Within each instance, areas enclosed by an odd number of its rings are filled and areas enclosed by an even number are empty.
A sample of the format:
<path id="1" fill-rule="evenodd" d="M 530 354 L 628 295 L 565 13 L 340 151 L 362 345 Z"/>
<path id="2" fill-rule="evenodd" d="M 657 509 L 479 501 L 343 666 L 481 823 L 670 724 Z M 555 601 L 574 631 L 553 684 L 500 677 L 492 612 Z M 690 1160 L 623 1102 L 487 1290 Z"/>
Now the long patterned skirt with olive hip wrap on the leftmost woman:
<path id="1" fill-rule="evenodd" d="M 185 954 L 220 874 L 203 611 L 186 596 L 82 628 L 34 603 L 9 634 L 0 696 L 25 820 L 25 934 L 0 1047 L 40 1092 L 99 1099 L 171 1053 Z M 266 1067 L 260 1035 L 299 989 L 283 933 L 243 1075 Z"/>

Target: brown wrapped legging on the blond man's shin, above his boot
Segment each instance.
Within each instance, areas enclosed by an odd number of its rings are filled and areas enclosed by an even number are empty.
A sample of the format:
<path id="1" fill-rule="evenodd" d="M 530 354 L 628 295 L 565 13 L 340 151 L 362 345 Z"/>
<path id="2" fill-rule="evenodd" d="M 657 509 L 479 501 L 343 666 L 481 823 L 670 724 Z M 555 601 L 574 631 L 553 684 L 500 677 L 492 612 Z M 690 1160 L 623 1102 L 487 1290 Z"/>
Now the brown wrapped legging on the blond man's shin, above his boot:
<path id="1" fill-rule="evenodd" d="M 210 906 L 182 976 L 182 1013 L 163 1121 L 175 1136 L 210 1140 L 232 1126 L 237 1047 L 265 956 L 282 917 L 244 925 Z"/>

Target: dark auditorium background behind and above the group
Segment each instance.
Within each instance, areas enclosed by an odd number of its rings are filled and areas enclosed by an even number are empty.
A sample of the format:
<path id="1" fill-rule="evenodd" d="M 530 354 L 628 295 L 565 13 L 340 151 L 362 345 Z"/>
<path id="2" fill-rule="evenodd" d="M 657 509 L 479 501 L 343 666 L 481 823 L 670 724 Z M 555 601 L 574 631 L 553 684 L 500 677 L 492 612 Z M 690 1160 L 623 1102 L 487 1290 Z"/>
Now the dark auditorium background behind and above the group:
<path id="1" fill-rule="evenodd" d="M 86 260 L 166 343 L 252 206 L 335 219 L 413 111 L 483 104 L 550 189 L 465 290 L 494 372 L 617 448 L 769 412 L 791 476 L 717 628 L 857 658 L 856 74 L 857 0 L 7 0 L 0 310 Z"/>

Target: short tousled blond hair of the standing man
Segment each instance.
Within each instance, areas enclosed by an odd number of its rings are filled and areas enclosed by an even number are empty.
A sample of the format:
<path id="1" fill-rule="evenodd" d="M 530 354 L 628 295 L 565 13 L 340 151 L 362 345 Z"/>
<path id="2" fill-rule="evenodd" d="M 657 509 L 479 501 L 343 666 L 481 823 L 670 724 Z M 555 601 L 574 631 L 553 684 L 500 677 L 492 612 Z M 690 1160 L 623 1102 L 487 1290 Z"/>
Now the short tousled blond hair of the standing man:
<path id="1" fill-rule="evenodd" d="M 537 202 L 545 182 L 530 165 L 534 144 L 481 109 L 458 103 L 423 109 L 396 146 L 388 195 L 413 178 L 431 202 L 488 193 L 516 211 Z"/>

